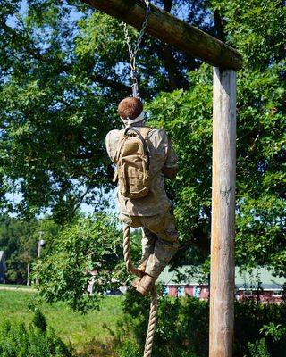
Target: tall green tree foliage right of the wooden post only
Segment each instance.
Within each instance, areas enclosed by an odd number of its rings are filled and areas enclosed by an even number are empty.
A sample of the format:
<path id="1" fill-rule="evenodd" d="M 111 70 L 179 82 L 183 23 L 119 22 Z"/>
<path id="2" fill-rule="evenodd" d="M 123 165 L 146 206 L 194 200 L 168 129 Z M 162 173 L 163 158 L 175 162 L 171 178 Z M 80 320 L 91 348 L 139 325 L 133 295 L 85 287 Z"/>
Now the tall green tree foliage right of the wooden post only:
<path id="1" fill-rule="evenodd" d="M 237 256 L 285 276 L 286 7 L 270 0 L 214 6 L 228 19 L 229 42 L 245 59 L 238 97 Z"/>

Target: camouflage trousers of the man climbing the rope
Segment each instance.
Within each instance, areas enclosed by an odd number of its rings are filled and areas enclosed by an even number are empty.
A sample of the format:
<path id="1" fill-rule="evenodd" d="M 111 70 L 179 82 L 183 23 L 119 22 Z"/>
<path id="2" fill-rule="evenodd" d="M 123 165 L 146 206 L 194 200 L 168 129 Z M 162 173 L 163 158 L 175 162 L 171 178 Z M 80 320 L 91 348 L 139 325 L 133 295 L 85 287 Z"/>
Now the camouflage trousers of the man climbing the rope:
<path id="1" fill-rule="evenodd" d="M 121 214 L 120 219 L 130 227 L 142 227 L 140 265 L 148 275 L 158 278 L 179 247 L 173 214 L 169 211 L 144 217 Z"/>

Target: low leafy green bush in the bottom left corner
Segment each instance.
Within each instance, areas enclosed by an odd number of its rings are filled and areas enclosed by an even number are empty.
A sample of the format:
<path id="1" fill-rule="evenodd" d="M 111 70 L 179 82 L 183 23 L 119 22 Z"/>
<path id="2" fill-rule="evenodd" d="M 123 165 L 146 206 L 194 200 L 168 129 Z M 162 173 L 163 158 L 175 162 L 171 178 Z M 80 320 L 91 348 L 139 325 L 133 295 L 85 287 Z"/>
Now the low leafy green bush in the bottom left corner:
<path id="1" fill-rule="evenodd" d="M 44 325 L 41 325 L 41 328 L 43 327 Z M 43 331 L 41 328 L 33 324 L 27 328 L 23 323 L 12 325 L 4 321 L 0 325 L 0 356 L 71 357 L 71 352 L 63 341 L 55 336 L 53 329 Z"/>

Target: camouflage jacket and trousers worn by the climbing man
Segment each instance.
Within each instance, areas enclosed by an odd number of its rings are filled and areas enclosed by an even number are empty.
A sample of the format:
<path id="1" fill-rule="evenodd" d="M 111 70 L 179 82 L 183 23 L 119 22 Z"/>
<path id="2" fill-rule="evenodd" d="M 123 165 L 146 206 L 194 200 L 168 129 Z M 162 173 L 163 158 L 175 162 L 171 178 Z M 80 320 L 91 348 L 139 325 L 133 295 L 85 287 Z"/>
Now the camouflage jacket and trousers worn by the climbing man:
<path id="1" fill-rule="evenodd" d="M 137 127 L 139 129 L 139 127 Z M 106 149 L 114 157 L 122 130 L 106 136 Z M 177 155 L 163 129 L 150 129 L 146 139 L 150 152 L 151 187 L 146 197 L 130 199 L 118 192 L 120 219 L 130 227 L 142 227 L 142 261 L 145 271 L 158 278 L 178 249 L 178 232 L 171 212 L 171 203 L 164 189 L 164 169 L 177 169 Z"/>

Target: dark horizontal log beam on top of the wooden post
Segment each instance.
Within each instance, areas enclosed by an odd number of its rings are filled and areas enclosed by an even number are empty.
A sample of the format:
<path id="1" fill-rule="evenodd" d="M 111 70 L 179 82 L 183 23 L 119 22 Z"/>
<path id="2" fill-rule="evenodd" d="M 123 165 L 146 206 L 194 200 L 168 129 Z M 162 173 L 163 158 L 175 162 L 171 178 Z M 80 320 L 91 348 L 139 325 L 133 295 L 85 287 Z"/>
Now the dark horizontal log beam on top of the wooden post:
<path id="1" fill-rule="evenodd" d="M 140 0 L 82 0 L 91 7 L 108 13 L 137 29 L 142 26 L 146 5 Z M 219 39 L 151 5 L 147 33 L 186 54 L 222 69 L 238 71 L 242 66 L 241 54 Z"/>

